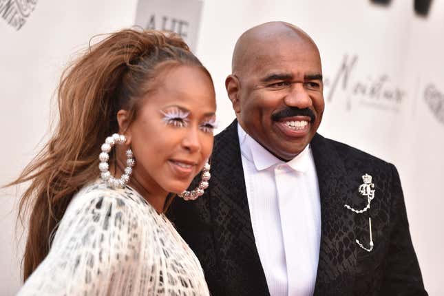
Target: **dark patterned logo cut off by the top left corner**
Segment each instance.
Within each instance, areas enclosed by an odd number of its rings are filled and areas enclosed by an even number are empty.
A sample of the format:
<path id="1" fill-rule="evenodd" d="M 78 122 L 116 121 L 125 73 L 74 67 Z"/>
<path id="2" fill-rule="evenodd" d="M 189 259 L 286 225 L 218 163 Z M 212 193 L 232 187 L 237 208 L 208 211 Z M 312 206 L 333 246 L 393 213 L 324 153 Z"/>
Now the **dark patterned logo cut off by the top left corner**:
<path id="1" fill-rule="evenodd" d="M 16 30 L 20 30 L 34 11 L 37 0 L 0 0 L 0 16 Z"/>

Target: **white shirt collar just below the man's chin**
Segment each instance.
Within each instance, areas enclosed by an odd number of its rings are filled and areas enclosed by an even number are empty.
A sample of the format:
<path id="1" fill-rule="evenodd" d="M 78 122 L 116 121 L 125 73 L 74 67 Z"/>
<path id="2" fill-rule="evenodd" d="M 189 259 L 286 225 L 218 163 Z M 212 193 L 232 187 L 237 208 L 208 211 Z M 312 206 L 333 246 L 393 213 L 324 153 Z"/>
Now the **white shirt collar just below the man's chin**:
<path id="1" fill-rule="evenodd" d="M 239 136 L 240 151 L 242 155 L 253 162 L 257 171 L 268 169 L 274 165 L 286 165 L 295 171 L 305 173 L 310 165 L 310 145 L 307 145 L 301 153 L 288 162 L 284 162 L 268 152 L 255 139 L 237 123 L 237 135 Z"/>

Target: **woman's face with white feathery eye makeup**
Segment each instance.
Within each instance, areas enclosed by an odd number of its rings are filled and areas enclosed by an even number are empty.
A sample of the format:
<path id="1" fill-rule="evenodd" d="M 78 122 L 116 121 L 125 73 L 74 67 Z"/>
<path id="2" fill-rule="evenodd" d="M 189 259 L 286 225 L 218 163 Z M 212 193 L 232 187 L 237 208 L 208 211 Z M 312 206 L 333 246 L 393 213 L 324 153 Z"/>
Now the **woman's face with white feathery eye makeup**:
<path id="1" fill-rule="evenodd" d="M 213 83 L 189 65 L 161 71 L 155 83 L 125 132 L 136 160 L 133 176 L 152 193 L 180 193 L 213 149 Z"/>

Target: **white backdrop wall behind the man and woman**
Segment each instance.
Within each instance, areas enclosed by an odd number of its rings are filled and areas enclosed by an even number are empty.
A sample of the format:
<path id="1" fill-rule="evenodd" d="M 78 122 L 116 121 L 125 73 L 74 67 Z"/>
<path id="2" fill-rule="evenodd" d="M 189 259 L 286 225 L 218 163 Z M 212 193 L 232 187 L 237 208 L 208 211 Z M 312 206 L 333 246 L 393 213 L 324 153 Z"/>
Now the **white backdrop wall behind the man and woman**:
<path id="1" fill-rule="evenodd" d="M 4 17 L 6 2 L 14 1 L 0 0 L 0 184 L 17 177 L 44 141 L 67 61 L 94 34 L 133 25 L 138 5 L 34 0 L 17 30 Z M 306 30 L 319 46 L 326 77 L 320 133 L 397 166 L 425 287 L 443 295 L 444 2 L 433 1 L 427 17 L 414 13 L 412 0 L 391 2 L 205 0 L 196 54 L 213 75 L 222 129 L 234 118 L 224 78 L 240 34 L 275 20 Z M 14 189 L 0 191 L 0 295 L 20 286 L 25 238 L 18 242 L 15 235 L 16 202 Z"/>

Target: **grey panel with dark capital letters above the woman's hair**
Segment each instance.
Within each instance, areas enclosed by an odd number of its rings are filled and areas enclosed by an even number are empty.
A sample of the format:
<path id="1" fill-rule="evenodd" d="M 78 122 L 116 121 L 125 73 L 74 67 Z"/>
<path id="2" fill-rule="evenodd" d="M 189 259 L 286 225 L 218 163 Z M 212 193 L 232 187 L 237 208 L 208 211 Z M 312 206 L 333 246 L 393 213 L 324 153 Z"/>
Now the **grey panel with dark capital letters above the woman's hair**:
<path id="1" fill-rule="evenodd" d="M 136 25 L 179 34 L 195 50 L 200 25 L 201 0 L 139 0 Z"/>

